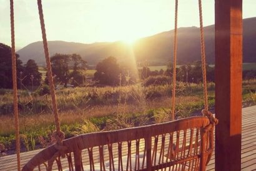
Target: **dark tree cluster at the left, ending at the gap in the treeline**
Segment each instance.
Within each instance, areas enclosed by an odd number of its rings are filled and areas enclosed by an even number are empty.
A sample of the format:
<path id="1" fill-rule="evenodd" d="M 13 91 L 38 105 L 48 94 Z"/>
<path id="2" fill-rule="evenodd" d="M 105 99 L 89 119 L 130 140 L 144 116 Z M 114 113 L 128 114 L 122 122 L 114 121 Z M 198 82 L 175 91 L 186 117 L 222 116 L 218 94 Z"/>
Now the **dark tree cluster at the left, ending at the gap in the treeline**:
<path id="1" fill-rule="evenodd" d="M 17 86 L 18 88 L 33 89 L 43 83 L 48 84 L 47 72 L 46 77 L 42 80 L 42 73 L 39 72 L 37 63 L 30 59 L 22 65 L 19 60 L 19 55 L 16 53 L 17 67 Z M 87 63 L 80 55 L 59 54 L 56 53 L 51 57 L 52 75 L 56 84 L 67 86 L 81 85 L 83 80 L 84 70 L 87 68 Z M 11 62 L 11 47 L 0 43 L 0 88 L 12 88 L 12 62 Z"/>

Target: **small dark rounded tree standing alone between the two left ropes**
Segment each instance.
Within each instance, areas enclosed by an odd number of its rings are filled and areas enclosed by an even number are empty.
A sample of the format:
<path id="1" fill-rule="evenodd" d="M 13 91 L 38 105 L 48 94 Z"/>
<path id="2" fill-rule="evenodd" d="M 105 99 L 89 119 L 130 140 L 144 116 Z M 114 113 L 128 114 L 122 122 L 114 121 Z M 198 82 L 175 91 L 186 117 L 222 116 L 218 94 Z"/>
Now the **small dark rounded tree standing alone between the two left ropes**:
<path id="1" fill-rule="evenodd" d="M 24 66 L 24 80 L 22 83 L 26 86 L 39 86 L 41 84 L 42 74 L 38 70 L 38 66 L 34 60 L 28 60 Z"/>

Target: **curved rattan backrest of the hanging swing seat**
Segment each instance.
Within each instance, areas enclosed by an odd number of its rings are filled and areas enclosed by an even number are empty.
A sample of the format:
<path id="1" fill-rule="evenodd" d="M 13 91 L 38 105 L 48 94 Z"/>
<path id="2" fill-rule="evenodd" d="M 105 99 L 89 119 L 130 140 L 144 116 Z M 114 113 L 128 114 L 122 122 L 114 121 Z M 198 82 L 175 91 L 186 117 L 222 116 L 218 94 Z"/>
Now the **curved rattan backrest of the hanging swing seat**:
<path id="1" fill-rule="evenodd" d="M 209 125 L 202 116 L 72 137 L 63 141 L 66 157 L 57 157 L 52 169 L 205 170 L 212 154 Z M 22 170 L 47 170 L 56 152 L 56 147 L 47 147 Z"/>

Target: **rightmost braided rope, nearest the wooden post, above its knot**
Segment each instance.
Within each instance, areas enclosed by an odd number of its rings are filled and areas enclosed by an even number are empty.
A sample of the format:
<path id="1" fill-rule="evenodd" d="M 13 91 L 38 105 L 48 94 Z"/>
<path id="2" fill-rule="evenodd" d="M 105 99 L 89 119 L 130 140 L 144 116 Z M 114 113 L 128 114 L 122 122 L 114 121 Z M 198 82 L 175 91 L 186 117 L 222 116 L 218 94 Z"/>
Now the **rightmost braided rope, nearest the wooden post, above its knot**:
<path id="1" fill-rule="evenodd" d="M 202 75 L 204 84 L 204 108 L 208 111 L 208 95 L 207 95 L 207 81 L 206 81 L 206 62 L 205 62 L 205 45 L 204 45 L 204 26 L 202 16 L 202 1 L 199 0 L 199 17 L 200 17 L 200 43 L 201 43 L 201 56 L 202 56 Z"/>

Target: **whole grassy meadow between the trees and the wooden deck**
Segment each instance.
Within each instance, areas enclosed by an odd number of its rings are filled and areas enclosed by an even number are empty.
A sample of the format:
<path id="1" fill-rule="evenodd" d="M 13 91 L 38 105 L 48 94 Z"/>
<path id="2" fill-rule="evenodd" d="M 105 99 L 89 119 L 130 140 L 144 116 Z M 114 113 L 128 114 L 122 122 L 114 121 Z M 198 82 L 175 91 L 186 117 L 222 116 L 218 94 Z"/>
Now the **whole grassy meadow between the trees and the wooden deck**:
<path id="1" fill-rule="evenodd" d="M 214 83 L 209 104 L 214 110 Z M 244 81 L 243 105 L 256 104 L 256 80 Z M 201 84 L 177 83 L 176 118 L 200 114 L 204 106 Z M 54 119 L 49 95 L 19 90 L 19 126 L 22 151 L 52 144 Z M 56 91 L 61 129 L 66 137 L 87 132 L 122 129 L 169 121 L 171 85 L 66 88 Z M 0 90 L 0 143 L 14 149 L 11 90 Z"/>

